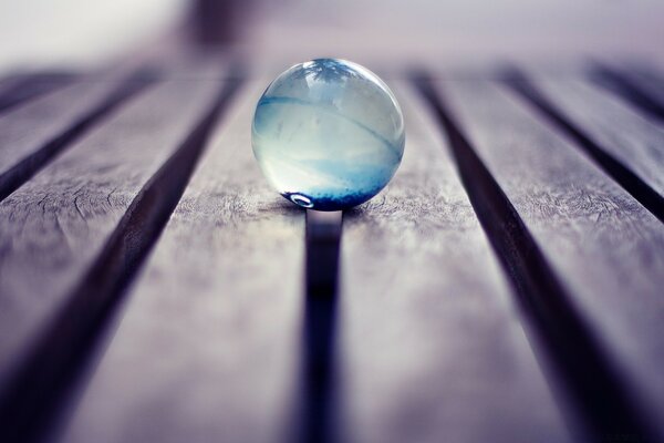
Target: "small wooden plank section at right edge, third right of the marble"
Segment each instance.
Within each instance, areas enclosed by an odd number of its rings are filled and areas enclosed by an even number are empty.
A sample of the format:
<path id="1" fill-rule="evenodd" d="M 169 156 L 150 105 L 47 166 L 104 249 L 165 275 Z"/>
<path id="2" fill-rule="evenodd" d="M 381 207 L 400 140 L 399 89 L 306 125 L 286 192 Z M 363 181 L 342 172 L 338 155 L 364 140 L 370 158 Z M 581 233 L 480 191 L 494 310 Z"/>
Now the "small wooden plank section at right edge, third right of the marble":
<path id="1" fill-rule="evenodd" d="M 664 131 L 620 97 L 579 80 L 537 84 L 600 146 L 664 196 Z"/>

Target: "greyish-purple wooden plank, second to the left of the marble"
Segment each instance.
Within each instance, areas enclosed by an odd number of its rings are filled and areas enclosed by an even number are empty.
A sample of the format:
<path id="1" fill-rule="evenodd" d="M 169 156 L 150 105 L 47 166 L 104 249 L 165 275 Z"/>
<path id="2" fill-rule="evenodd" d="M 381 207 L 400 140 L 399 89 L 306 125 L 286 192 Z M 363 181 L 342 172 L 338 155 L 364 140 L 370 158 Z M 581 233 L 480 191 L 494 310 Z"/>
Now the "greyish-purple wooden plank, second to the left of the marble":
<path id="1" fill-rule="evenodd" d="M 216 89 L 155 86 L 0 204 L 0 388 Z"/>

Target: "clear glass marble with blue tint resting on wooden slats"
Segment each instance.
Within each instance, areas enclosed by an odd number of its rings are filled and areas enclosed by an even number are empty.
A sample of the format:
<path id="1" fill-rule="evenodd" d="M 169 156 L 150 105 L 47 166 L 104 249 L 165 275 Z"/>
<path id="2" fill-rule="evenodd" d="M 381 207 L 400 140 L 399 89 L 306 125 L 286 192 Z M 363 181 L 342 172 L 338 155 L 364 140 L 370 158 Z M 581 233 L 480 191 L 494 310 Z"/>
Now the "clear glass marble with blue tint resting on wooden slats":
<path id="1" fill-rule="evenodd" d="M 359 64 L 318 59 L 279 75 L 251 125 L 258 164 L 294 204 L 340 210 L 376 195 L 396 172 L 404 119 L 387 85 Z"/>

